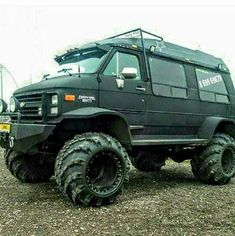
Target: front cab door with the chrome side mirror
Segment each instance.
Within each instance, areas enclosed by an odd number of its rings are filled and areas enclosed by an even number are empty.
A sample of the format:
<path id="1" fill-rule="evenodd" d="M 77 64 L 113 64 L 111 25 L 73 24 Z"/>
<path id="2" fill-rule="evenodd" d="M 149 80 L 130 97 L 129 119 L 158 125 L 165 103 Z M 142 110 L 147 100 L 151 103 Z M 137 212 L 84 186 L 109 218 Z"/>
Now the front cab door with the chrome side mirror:
<path id="1" fill-rule="evenodd" d="M 142 65 L 140 53 L 114 49 L 100 73 L 99 107 L 123 113 L 131 125 L 144 124 L 146 82 Z M 125 70 L 136 71 L 136 76 L 125 76 Z"/>

